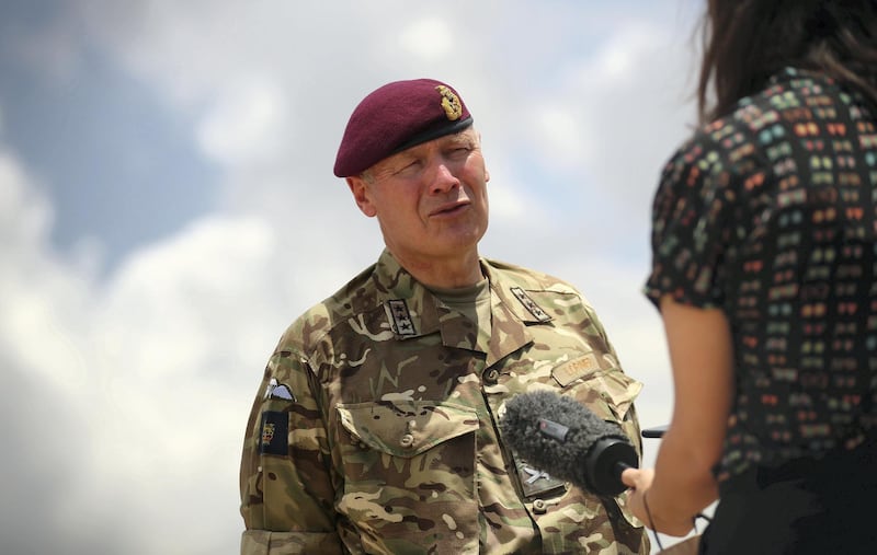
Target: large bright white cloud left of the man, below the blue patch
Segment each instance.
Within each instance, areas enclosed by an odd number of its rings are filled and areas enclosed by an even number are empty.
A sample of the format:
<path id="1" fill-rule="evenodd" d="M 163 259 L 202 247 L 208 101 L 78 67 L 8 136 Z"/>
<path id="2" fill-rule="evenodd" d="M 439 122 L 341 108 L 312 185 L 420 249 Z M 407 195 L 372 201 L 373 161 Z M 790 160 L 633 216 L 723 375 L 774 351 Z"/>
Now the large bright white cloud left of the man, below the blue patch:
<path id="1" fill-rule="evenodd" d="M 52 208 L 35 190 L 14 159 L 0 157 L 0 346 L 4 372 L 32 382 L 25 396 L 0 395 L 25 425 L 9 433 L 33 446 L 18 456 L 34 470 L 58 459 L 61 482 L 37 498 L 26 483 L 7 483 L 20 476 L 4 477 L 7 501 L 22 513 L 50 502 L 44 524 L 83 537 L 70 553 L 89 553 L 81 546 L 101 537 L 112 545 L 104 527 L 126 536 L 126 553 L 227 552 L 239 534 L 247 412 L 282 331 L 271 307 L 271 231 L 260 220 L 210 217 L 100 284 L 53 254 Z M 50 398 L 62 402 L 39 405 Z"/>

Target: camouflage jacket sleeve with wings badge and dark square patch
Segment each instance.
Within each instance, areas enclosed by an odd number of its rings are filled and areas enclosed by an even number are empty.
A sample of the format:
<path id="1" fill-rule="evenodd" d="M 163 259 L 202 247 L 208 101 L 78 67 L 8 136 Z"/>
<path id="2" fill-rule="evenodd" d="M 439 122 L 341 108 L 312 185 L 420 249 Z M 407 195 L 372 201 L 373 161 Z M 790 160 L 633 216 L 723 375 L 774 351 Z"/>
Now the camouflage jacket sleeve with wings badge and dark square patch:
<path id="1" fill-rule="evenodd" d="M 241 555 L 342 553 L 326 426 L 304 357 L 269 360 L 240 464 Z"/>

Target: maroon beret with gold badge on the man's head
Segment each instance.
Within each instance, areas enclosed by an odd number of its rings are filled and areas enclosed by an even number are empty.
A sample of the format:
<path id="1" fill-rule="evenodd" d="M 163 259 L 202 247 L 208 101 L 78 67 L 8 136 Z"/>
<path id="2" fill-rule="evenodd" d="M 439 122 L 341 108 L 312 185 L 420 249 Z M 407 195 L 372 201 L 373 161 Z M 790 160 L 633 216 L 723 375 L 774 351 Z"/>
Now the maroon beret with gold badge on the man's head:
<path id="1" fill-rule="evenodd" d="M 395 81 L 353 111 L 335 157 L 335 175 L 358 175 L 385 158 L 470 126 L 472 117 L 451 85 L 433 79 Z"/>

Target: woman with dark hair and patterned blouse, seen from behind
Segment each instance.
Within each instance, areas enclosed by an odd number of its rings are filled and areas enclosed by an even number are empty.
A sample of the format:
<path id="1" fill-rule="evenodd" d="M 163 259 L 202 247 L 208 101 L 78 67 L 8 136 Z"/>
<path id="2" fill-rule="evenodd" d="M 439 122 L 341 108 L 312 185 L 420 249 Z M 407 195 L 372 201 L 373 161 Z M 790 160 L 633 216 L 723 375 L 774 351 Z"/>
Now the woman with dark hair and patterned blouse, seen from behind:
<path id="1" fill-rule="evenodd" d="M 877 545 L 877 1 L 708 0 L 653 203 L 674 407 L 635 513 L 701 553 Z"/>

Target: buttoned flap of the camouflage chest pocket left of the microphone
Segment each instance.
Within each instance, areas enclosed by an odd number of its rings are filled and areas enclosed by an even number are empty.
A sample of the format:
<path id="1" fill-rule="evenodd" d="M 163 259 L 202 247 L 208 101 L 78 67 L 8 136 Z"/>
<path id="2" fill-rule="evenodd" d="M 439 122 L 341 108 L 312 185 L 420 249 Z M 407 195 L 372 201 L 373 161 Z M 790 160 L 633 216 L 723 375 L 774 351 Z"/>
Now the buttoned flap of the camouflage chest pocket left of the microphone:
<path id="1" fill-rule="evenodd" d="M 434 401 L 391 401 L 335 406 L 341 425 L 372 449 L 411 458 L 478 429 L 478 414 Z"/>

